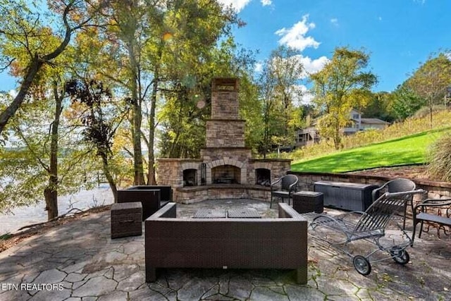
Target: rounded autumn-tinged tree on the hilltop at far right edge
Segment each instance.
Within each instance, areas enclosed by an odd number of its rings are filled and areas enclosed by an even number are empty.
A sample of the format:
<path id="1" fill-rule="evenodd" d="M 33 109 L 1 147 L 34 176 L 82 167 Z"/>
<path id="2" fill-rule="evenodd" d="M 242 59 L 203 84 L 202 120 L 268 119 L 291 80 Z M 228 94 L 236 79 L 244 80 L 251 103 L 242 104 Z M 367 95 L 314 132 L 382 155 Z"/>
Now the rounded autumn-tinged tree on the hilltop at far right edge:
<path id="1" fill-rule="evenodd" d="M 451 61 L 447 54 L 428 59 L 407 80 L 406 85 L 426 100 L 433 127 L 433 106 L 443 101 L 451 86 Z"/>

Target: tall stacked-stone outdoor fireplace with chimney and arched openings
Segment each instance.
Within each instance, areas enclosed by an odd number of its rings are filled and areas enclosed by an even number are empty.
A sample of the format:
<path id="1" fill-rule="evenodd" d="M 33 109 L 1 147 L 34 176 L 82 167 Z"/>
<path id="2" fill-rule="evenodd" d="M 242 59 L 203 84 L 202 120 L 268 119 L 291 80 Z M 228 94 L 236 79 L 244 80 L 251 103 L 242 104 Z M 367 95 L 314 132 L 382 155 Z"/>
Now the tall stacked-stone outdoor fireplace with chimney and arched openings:
<path id="1" fill-rule="evenodd" d="M 239 82 L 211 84 L 211 119 L 200 159 L 157 159 L 159 185 L 173 187 L 175 202 L 249 198 L 269 201 L 268 186 L 290 171 L 289 159 L 252 159 L 245 147 L 245 120 L 238 113 Z"/>

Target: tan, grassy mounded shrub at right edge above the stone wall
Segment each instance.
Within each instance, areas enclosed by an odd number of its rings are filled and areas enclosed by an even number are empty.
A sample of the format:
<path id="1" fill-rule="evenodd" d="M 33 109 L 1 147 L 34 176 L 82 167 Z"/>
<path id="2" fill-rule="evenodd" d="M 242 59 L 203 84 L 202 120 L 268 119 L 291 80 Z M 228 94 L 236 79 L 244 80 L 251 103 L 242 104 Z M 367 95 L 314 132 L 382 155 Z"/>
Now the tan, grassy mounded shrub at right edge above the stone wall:
<path id="1" fill-rule="evenodd" d="M 433 178 L 451 181 L 451 134 L 444 135 L 431 147 L 428 171 Z"/>

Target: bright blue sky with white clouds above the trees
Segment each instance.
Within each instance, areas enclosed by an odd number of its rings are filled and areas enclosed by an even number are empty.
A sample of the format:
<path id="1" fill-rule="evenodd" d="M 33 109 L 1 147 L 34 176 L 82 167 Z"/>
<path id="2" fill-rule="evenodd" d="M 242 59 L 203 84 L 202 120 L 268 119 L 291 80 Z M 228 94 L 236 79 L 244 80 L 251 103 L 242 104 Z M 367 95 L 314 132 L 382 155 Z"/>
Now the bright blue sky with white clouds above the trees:
<path id="1" fill-rule="evenodd" d="M 335 47 L 364 49 L 378 76 L 373 91 L 393 91 L 433 52 L 451 48 L 450 0 L 220 0 L 247 23 L 236 41 L 264 61 L 280 44 L 319 70 Z"/>

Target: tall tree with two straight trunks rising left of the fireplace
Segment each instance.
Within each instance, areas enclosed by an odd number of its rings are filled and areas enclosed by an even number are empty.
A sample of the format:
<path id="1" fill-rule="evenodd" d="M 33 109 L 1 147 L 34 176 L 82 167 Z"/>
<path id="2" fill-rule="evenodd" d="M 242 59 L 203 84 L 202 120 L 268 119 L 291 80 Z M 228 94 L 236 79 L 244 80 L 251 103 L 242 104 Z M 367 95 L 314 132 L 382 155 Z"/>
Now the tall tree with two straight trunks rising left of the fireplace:
<path id="1" fill-rule="evenodd" d="M 235 13 L 204 0 L 129 1 L 112 3 L 110 8 L 107 35 L 116 47 L 111 53 L 119 59 L 117 70 L 121 71 L 114 79 L 128 92 L 132 104 L 135 184 L 144 182 L 142 142 L 149 150 L 147 183 L 154 183 L 158 106 L 168 94 L 186 92 L 190 97 L 204 85 L 206 79 L 199 78 L 197 70 L 209 65 L 210 50 L 230 31 Z"/>

